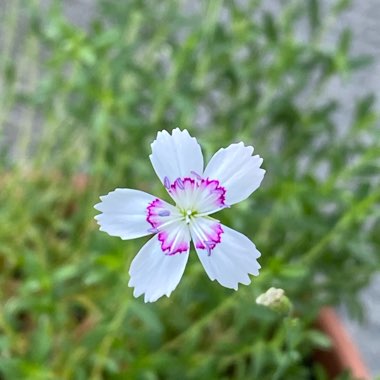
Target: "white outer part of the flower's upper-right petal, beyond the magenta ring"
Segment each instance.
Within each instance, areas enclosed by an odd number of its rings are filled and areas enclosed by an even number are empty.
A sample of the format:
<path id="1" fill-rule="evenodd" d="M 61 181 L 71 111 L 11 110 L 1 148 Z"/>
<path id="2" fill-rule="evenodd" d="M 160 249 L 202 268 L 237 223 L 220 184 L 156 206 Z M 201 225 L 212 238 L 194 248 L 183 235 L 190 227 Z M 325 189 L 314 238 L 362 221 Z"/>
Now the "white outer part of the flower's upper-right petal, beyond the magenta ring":
<path id="1" fill-rule="evenodd" d="M 265 170 L 260 169 L 263 159 L 252 153 L 253 147 L 242 142 L 231 144 L 218 150 L 206 167 L 203 176 L 220 182 L 228 205 L 248 198 L 264 178 Z"/>

